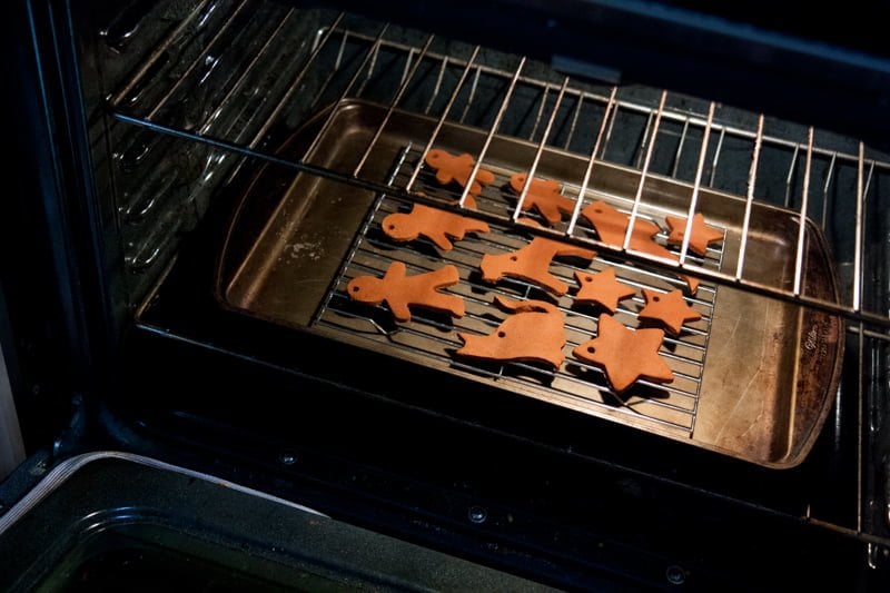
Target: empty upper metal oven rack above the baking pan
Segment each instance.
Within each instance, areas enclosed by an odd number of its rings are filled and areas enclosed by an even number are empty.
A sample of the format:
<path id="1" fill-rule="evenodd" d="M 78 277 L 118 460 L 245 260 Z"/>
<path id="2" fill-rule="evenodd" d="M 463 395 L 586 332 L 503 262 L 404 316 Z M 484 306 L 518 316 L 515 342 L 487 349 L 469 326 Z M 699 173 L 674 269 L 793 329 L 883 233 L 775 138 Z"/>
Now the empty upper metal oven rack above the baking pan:
<path id="1" fill-rule="evenodd" d="M 243 6 L 244 2 L 238 4 L 238 9 Z M 199 14 L 200 11 L 196 9 L 191 17 L 197 19 Z M 269 23 L 269 34 L 280 34 L 279 31 L 288 26 L 284 19 L 291 18 L 291 14 L 293 11 L 286 11 L 281 22 Z M 863 278 L 878 265 L 880 256 L 864 248 L 866 234 L 873 226 L 869 215 L 880 201 L 880 188 L 883 184 L 879 181 L 890 172 L 890 162 L 877 152 L 872 154 L 862 142 L 839 139 L 812 127 L 785 126 L 781 127 L 785 134 L 779 135 L 771 132 L 771 129 L 779 127 L 762 115 L 743 113 L 714 102 L 699 101 L 668 91 L 646 93 L 637 88 L 599 88 L 568 77 L 560 79 L 558 76 L 546 72 L 541 65 L 524 58 L 496 55 L 478 46 L 447 43 L 446 47 L 452 52 L 443 53 L 435 48 L 445 42 L 433 36 L 416 39 L 417 42 L 412 45 L 404 41 L 404 38 L 411 36 L 396 27 L 363 21 L 359 30 L 354 30 L 344 26 L 349 19 L 347 14 L 330 16 L 329 24 L 315 31 L 314 45 L 303 53 L 303 62 L 293 75 L 289 86 L 279 93 L 280 99 L 276 105 L 267 107 L 266 118 L 261 123 L 256 118 L 253 120 L 249 134 L 244 129 L 217 129 L 212 126 L 212 118 L 191 129 L 171 126 L 165 121 L 164 110 L 158 105 L 147 111 L 125 108 L 128 93 L 147 83 L 142 79 L 151 71 L 150 62 L 140 68 L 134 79 L 112 97 L 112 115 L 121 121 L 197 140 L 214 148 L 274 161 L 295 170 L 352 181 L 378 191 L 387 190 L 382 180 L 362 175 L 363 164 L 374 150 L 387 119 L 384 119 L 366 147 L 358 166 L 349 171 L 313 166 L 305 158 L 281 159 L 265 148 L 267 132 L 280 125 L 278 119 L 290 109 L 289 103 L 296 100 L 297 90 L 305 86 L 306 79 L 318 78 L 315 69 L 327 65 L 326 59 L 333 59 L 333 63 L 328 65 L 333 70 L 313 93 L 313 100 L 305 107 L 306 112 L 318 111 L 324 107 L 319 101 L 329 101 L 330 98 L 376 100 L 387 105 L 390 111 L 409 105 L 438 119 L 438 126 L 425 150 L 435 145 L 436 134 L 446 120 L 474 126 L 486 123 L 486 142 L 474 155 L 477 167 L 488 166 L 485 160 L 487 146 L 495 135 L 520 136 L 537 146 L 535 160 L 528 164 L 532 176 L 544 152 L 584 154 L 590 161 L 586 175 L 572 180 L 580 186 L 578 195 L 583 195 L 590 184 L 595 161 L 634 167 L 641 175 L 635 201 L 630 211 L 632 218 L 639 216 L 639 204 L 646 182 L 665 176 L 691 185 L 690 214 L 698 211 L 698 200 L 703 188 L 744 188 L 746 213 L 750 213 L 751 204 L 764 195 L 772 201 L 807 214 L 830 236 L 837 236 L 839 230 L 843 230 L 846 235 L 841 235 L 847 238 L 832 245 L 843 284 L 841 303 L 813 298 L 804 291 L 801 278 L 803 225 L 799 225 L 799 239 L 793 247 L 795 277 L 790 287 L 767 286 L 745 278 L 746 218 L 742 221 L 744 233 L 735 269 L 721 273 L 701 269 L 695 265 L 685 244 L 680 250 L 679 263 L 655 261 L 655 265 L 673 265 L 693 276 L 837 312 L 873 326 L 850 324 L 850 330 L 890 339 L 886 329 L 890 326 L 890 317 L 880 303 L 882 295 L 876 295 L 872 305 L 863 294 Z M 180 29 L 188 27 L 180 24 L 171 37 L 184 34 Z M 270 38 L 260 45 L 265 48 L 263 51 L 268 51 L 271 41 Z M 196 61 L 206 59 L 212 47 L 214 40 Z M 348 59 L 349 56 L 352 59 Z M 243 59 L 240 63 L 245 71 L 238 77 L 239 80 L 249 79 L 249 70 L 257 67 L 259 61 L 261 60 Z M 504 63 L 511 61 L 508 66 Z M 185 70 L 191 72 L 195 68 L 190 65 Z M 387 77 L 393 77 L 395 83 L 384 83 Z M 174 90 L 188 92 L 187 78 L 179 79 L 179 88 L 169 89 L 164 97 L 169 100 Z M 421 78 L 429 83 L 422 85 Z M 454 80 L 448 85 L 447 79 Z M 428 88 L 418 90 L 421 87 Z M 451 91 L 447 92 L 445 87 Z M 221 103 L 219 109 L 228 107 L 225 100 Z M 219 118 L 219 109 L 210 110 L 216 113 L 214 118 Z M 520 111 L 521 115 L 517 116 Z M 595 119 L 587 121 L 592 117 Z M 329 123 L 328 119 L 322 129 Z M 309 146 L 306 155 L 313 148 Z M 419 168 L 412 175 L 406 194 L 414 190 L 414 178 Z M 739 175 L 739 171 L 744 171 L 745 175 Z M 392 192 L 392 188 L 388 190 Z M 840 221 L 829 220 L 828 213 L 838 208 L 852 209 L 853 216 L 849 219 L 840 217 L 844 218 Z M 568 224 L 566 236 L 573 234 L 578 209 Z M 517 213 L 518 206 L 514 211 L 514 219 Z M 852 228 L 835 228 L 839 225 Z M 621 246 L 625 256 L 651 261 L 644 254 L 627 249 L 626 244 L 625 240 L 625 245 Z M 611 248 L 614 249 L 614 246 Z"/>

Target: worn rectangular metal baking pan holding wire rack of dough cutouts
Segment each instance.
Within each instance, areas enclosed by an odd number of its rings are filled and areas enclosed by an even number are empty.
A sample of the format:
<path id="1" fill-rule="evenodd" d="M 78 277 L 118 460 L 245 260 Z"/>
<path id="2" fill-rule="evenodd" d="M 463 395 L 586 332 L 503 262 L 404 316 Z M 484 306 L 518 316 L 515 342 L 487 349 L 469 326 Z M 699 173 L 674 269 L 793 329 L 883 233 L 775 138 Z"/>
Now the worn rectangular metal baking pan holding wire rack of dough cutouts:
<path id="1" fill-rule="evenodd" d="M 600 369 L 576 360 L 571 352 L 596 335 L 596 312 L 574 303 L 574 288 L 555 298 L 521 280 L 483 283 L 478 261 L 484 254 L 505 253 L 542 231 L 513 223 L 515 196 L 506 187 L 515 172 L 527 171 L 536 158 L 534 146 L 494 136 L 485 168 L 495 182 L 478 196 L 478 209 L 464 216 L 484 217 L 492 233 L 467 236 L 451 251 L 431 243 L 396 244 L 380 230 L 380 220 L 411 209 L 413 199 L 453 206 L 461 191 L 443 187 L 421 165 L 428 138 L 452 152 L 479 154 L 484 134 L 472 128 L 363 102 L 343 102 L 320 130 L 309 123 L 283 150 L 335 171 L 386 182 L 392 195 L 375 195 L 343 182 L 300 174 L 293 177 L 267 166 L 247 190 L 224 249 L 219 297 L 228 307 L 253 317 L 330 336 L 386 352 L 473 380 L 493 382 L 504 389 L 535 397 L 615 422 L 684 441 L 770 467 L 800 463 L 812 445 L 837 391 L 842 356 L 841 323 L 835 316 L 771 299 L 732 286 L 702 281 L 686 302 L 701 314 L 676 338 L 665 337 L 660 354 L 675 378 L 664 385 L 639 380 L 622 394 L 609 388 Z M 382 126 L 385 123 L 385 126 Z M 309 148 L 306 149 L 306 146 Z M 374 150 L 368 151 L 367 147 Z M 538 152 L 537 177 L 557 179 L 573 200 L 587 162 L 560 151 Z M 629 213 L 640 172 L 596 161 L 583 190 L 581 206 L 606 201 Z M 636 214 L 662 229 L 668 215 L 685 216 L 691 187 L 674 180 L 646 179 Z M 702 191 L 699 208 L 709 225 L 724 234 L 705 257 L 689 254 L 701 269 L 736 269 L 745 200 Z M 745 278 L 770 286 L 790 286 L 795 269 L 797 215 L 754 204 Z M 824 243 L 817 228 L 805 226 L 802 278 L 807 294 L 834 299 L 835 280 Z M 585 220 L 556 229 L 566 240 L 594 241 Z M 546 234 L 546 231 L 543 231 Z M 664 235 L 656 239 L 664 244 Z M 684 281 L 663 268 L 594 247 L 593 263 L 556 260 L 551 271 L 575 286 L 574 271 L 616 269 L 619 278 L 635 288 L 681 288 Z M 385 307 L 349 302 L 348 280 L 356 275 L 382 275 L 392 261 L 406 263 L 409 273 L 427 271 L 445 263 L 459 270 L 461 283 L 449 293 L 464 298 L 466 315 L 448 319 L 418 312 L 409 323 L 395 323 Z M 504 317 L 492 305 L 495 295 L 550 299 L 565 316 L 565 362 L 556 370 L 534 364 L 483 364 L 462 359 L 457 332 L 488 334 Z M 637 327 L 643 306 L 637 290 L 625 300 L 616 318 Z"/>

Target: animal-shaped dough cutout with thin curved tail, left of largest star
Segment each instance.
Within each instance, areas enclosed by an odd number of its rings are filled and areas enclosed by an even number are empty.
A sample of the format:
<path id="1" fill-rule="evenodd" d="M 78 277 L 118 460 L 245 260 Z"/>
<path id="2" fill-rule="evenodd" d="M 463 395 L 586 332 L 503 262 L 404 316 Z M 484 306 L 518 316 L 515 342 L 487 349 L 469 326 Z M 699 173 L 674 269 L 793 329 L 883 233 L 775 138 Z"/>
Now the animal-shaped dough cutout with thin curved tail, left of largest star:
<path id="1" fill-rule="evenodd" d="M 560 368 L 565 345 L 562 312 L 543 300 L 494 298 L 500 307 L 514 314 L 487 336 L 458 332 L 464 346 L 457 354 L 484 360 L 544 363 Z"/>

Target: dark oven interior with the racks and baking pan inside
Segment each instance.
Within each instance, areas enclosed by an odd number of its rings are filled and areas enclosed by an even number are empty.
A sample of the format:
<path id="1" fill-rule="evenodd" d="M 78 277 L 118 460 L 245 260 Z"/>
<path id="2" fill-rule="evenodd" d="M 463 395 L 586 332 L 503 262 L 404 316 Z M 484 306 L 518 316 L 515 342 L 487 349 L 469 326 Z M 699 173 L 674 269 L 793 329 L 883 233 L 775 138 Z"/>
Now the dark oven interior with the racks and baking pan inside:
<path id="1" fill-rule="evenodd" d="M 275 476 L 271 491 L 398 492 L 404 507 L 516 546 L 571 525 L 555 548 L 585 550 L 591 532 L 630 542 L 650 551 L 637 560 L 655 581 L 683 553 L 676 562 L 703 573 L 738 574 L 695 543 L 721 521 L 734 530 L 723 556 L 762 561 L 774 546 L 791 565 L 821 559 L 787 548 L 797 525 L 881 565 L 883 152 L 709 97 L 570 77 L 434 34 L 434 21 L 258 0 L 71 2 L 52 14 L 70 26 L 85 191 L 119 329 L 109 367 L 123 370 L 98 405 L 118 443 L 246 463 Z M 468 188 L 424 162 L 435 149 L 494 174 L 474 210 Z M 521 210 L 532 191 L 511 189 L 517 174 L 558 181 L 572 210 L 555 225 Z M 671 255 L 610 244 L 582 214 L 597 202 L 655 225 Z M 389 240 L 384 218 L 418 204 L 490 233 L 448 250 Z M 666 217 L 695 213 L 720 235 L 703 254 L 668 243 Z M 556 258 L 565 295 L 481 278 L 482 256 L 537 239 L 596 253 Z M 350 300 L 352 279 L 394 261 L 411 274 L 455 266 L 465 316 L 396 323 Z M 700 314 L 661 348 L 671 384 L 615 393 L 567 355 L 599 327 L 574 277 L 607 267 L 637 289 L 615 314 L 627 327 L 649 327 L 643 288 L 681 290 Z M 555 305 L 566 362 L 456 355 L 458 330 L 505 319 L 495 296 Z M 706 511 L 682 534 L 695 506 Z M 764 524 L 775 543 L 752 542 Z"/>

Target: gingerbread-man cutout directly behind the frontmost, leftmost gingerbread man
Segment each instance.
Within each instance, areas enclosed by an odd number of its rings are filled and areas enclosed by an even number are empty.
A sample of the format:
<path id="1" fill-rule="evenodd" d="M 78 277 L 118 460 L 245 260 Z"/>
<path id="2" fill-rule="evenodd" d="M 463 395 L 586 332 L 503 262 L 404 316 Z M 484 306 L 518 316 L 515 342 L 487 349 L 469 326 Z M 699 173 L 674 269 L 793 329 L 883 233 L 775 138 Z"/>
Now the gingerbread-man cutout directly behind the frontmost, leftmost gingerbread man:
<path id="1" fill-rule="evenodd" d="M 436 247 L 449 251 L 454 246 L 448 237 L 461 240 L 467 233 L 488 233 L 488 225 L 423 204 L 415 204 L 411 213 L 390 214 L 380 223 L 383 231 L 397 241 L 412 241 L 424 236 L 436 244 Z"/>

